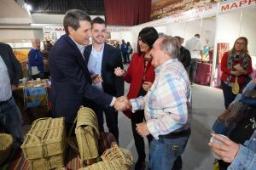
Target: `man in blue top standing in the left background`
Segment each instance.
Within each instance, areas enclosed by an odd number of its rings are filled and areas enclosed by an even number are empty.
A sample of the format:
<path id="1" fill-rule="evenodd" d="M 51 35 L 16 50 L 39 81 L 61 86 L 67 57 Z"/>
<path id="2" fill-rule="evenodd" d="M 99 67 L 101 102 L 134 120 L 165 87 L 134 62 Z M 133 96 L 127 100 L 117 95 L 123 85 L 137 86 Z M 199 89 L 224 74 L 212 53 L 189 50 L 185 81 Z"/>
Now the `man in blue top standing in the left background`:
<path id="1" fill-rule="evenodd" d="M 44 78 L 43 54 L 38 39 L 32 41 L 32 49 L 28 53 L 28 71 L 30 78 Z"/>

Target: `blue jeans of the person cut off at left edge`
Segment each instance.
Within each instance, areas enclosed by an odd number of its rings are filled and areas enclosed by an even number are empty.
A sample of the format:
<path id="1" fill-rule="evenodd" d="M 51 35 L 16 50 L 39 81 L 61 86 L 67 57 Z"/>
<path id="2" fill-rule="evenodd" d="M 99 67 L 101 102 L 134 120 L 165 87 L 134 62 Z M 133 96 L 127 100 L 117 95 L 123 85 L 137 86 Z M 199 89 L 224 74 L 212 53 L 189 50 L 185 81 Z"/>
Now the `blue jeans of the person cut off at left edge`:
<path id="1" fill-rule="evenodd" d="M 14 138 L 14 144 L 22 144 L 21 115 L 15 99 L 12 97 L 0 105 L 0 125 Z"/>

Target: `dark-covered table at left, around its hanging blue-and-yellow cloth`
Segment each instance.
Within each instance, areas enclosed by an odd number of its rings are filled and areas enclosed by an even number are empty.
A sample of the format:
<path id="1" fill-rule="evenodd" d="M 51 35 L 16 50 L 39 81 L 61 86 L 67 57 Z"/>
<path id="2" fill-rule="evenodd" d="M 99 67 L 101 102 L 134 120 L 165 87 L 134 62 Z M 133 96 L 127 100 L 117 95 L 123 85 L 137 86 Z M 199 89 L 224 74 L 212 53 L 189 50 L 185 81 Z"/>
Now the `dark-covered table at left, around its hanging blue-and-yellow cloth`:
<path id="1" fill-rule="evenodd" d="M 38 105 L 36 107 L 27 107 L 26 99 L 24 98 L 24 88 L 29 87 L 44 87 L 47 90 L 47 94 L 50 93 L 50 86 L 46 82 L 28 82 L 26 84 L 21 84 L 19 88 L 16 88 L 13 91 L 13 96 L 15 98 L 15 102 L 20 109 L 20 113 L 24 123 L 32 123 L 35 119 L 40 117 L 51 116 L 49 112 L 49 102 L 47 101 L 47 105 Z M 48 96 L 45 96 L 48 98 Z"/>

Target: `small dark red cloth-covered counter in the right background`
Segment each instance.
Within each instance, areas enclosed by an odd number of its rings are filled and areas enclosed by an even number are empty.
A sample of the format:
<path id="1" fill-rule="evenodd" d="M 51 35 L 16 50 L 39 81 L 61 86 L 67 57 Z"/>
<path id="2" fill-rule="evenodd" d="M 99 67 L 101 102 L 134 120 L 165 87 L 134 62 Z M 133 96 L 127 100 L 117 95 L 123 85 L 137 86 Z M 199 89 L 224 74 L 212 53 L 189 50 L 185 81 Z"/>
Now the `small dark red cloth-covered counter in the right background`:
<path id="1" fill-rule="evenodd" d="M 212 64 L 198 62 L 195 82 L 202 85 L 210 85 L 212 74 Z"/>

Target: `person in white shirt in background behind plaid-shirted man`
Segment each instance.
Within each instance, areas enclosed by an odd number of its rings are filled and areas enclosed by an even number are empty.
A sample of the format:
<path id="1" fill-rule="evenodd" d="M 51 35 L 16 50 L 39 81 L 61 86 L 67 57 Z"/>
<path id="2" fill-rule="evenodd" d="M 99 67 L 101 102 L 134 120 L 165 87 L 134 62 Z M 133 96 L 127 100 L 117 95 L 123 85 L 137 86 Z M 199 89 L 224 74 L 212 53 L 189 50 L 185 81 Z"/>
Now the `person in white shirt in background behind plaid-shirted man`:
<path id="1" fill-rule="evenodd" d="M 191 65 L 189 68 L 189 79 L 191 84 L 195 82 L 197 62 L 201 58 L 202 54 L 202 45 L 200 41 L 200 35 L 195 34 L 194 37 L 191 37 L 185 44 L 185 48 L 189 49 L 191 54 Z"/>

